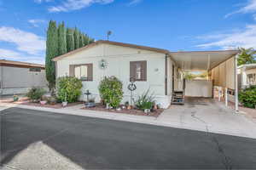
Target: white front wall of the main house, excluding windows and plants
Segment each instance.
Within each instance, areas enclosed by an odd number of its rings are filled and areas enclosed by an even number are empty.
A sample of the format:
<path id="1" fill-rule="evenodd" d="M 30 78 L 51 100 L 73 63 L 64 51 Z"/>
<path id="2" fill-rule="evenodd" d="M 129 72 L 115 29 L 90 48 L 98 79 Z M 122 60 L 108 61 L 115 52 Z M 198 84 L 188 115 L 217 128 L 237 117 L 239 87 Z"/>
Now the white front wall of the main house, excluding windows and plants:
<path id="1" fill-rule="evenodd" d="M 83 93 L 89 89 L 99 101 L 98 85 L 102 77 L 115 76 L 123 82 L 123 102 L 125 102 L 130 101 L 131 94 L 127 89 L 130 79 L 130 61 L 147 60 L 147 82 L 136 82 L 135 94 L 143 94 L 150 88 L 157 97 L 157 102 L 167 107 L 171 99 L 170 96 L 165 96 L 165 57 L 165 54 L 152 51 L 100 44 L 57 61 L 57 77 L 69 75 L 69 65 L 92 63 L 93 82 L 83 82 Z M 105 59 L 108 63 L 108 68 L 105 70 L 99 68 L 101 59 Z"/>

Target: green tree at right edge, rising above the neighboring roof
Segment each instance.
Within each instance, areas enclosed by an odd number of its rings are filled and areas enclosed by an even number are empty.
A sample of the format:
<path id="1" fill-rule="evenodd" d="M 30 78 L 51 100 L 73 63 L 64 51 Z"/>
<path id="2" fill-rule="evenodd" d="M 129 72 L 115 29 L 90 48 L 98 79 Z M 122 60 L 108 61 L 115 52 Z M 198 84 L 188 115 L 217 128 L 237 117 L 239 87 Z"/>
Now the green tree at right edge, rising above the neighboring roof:
<path id="1" fill-rule="evenodd" d="M 256 63 L 256 51 L 253 48 L 239 48 L 238 65 Z"/>

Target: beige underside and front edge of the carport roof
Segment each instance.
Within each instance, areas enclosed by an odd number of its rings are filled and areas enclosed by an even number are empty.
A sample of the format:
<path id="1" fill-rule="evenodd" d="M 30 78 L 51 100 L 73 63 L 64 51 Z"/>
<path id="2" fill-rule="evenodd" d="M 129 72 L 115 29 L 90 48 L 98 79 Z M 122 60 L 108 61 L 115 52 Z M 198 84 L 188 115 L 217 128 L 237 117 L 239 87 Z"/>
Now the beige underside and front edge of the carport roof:
<path id="1" fill-rule="evenodd" d="M 180 51 L 169 54 L 184 71 L 209 71 L 238 53 L 238 50 L 219 50 Z"/>

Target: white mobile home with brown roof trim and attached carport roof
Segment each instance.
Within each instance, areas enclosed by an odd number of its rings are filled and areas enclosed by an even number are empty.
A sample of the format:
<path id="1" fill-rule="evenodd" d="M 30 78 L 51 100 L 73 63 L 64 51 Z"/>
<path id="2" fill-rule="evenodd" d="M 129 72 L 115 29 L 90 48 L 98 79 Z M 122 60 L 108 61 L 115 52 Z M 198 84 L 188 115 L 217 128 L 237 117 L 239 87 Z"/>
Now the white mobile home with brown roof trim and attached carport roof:
<path id="1" fill-rule="evenodd" d="M 125 101 L 130 101 L 127 89 L 130 77 L 136 79 L 135 95 L 150 89 L 156 103 L 163 108 L 171 104 L 172 93 L 183 90 L 183 71 L 211 71 L 227 59 L 234 57 L 236 50 L 214 52 L 170 52 L 161 48 L 150 48 L 135 44 L 97 41 L 53 59 L 56 77 L 74 76 L 83 81 L 86 90 L 100 101 L 98 86 L 102 77 L 118 77 L 123 82 Z M 233 72 L 232 72 L 233 74 Z M 208 86 L 208 84 L 203 84 Z M 201 85 L 195 86 L 201 88 Z M 209 87 L 212 97 L 212 84 Z M 205 94 L 199 93 L 198 95 Z M 195 95 L 195 94 L 194 94 Z M 84 96 L 82 96 L 84 99 Z"/>

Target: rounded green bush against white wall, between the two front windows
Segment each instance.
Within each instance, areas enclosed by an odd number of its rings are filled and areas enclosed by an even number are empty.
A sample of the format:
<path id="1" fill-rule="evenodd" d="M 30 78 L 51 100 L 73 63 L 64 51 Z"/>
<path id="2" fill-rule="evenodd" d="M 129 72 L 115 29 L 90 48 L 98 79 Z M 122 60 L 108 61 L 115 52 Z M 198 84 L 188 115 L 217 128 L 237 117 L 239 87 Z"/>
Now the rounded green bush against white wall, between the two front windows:
<path id="1" fill-rule="evenodd" d="M 117 77 L 104 77 L 99 92 L 105 104 L 117 108 L 123 99 L 123 83 Z"/>

